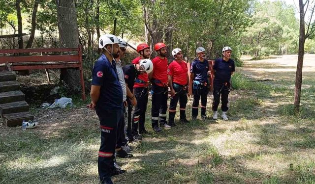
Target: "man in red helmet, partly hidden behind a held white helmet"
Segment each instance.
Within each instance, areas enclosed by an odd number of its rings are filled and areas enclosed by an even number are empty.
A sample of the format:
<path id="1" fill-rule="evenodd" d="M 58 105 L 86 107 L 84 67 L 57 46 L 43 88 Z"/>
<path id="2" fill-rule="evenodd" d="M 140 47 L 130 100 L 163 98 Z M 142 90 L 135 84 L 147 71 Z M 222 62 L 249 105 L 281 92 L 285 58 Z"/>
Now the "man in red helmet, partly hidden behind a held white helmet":
<path id="1" fill-rule="evenodd" d="M 148 59 L 151 55 L 150 47 L 145 44 L 139 44 L 137 46 L 137 52 L 140 53 L 139 57 L 136 57 L 132 60 L 132 64 L 139 64 L 141 59 Z M 137 100 L 137 105 L 133 111 L 132 117 L 132 130 L 131 130 L 131 137 L 128 137 L 129 141 L 133 139 L 142 140 L 143 133 L 148 133 L 144 127 L 145 122 L 145 115 L 147 110 L 148 104 L 148 85 L 149 79 L 147 73 L 139 74 L 136 78 L 134 85 L 133 85 L 133 94 Z M 139 129 L 139 132 L 138 132 Z"/>

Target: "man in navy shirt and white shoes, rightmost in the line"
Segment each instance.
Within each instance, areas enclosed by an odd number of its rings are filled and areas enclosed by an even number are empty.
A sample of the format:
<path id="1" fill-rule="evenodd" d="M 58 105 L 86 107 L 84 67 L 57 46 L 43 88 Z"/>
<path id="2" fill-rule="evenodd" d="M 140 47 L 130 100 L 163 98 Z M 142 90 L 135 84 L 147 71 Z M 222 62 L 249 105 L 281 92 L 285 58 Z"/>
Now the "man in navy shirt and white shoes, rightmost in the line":
<path id="1" fill-rule="evenodd" d="M 231 75 L 235 72 L 235 64 L 231 59 L 232 49 L 230 47 L 224 47 L 222 49 L 223 58 L 215 60 L 213 69 L 215 71 L 215 79 L 213 81 L 213 102 L 212 110 L 213 119 L 218 119 L 218 106 L 220 104 L 220 95 L 221 95 L 221 110 L 222 110 L 222 119 L 227 121 L 226 111 L 228 110 L 228 94 L 230 92 L 230 80 Z"/>

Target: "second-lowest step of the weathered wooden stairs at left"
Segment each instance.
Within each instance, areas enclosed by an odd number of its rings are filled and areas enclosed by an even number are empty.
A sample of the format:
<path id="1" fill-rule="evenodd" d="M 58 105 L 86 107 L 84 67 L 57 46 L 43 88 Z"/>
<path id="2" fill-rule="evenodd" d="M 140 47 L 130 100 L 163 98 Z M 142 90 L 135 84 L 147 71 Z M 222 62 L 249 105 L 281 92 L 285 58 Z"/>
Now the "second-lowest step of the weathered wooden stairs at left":
<path id="1" fill-rule="evenodd" d="M 25 101 L 0 104 L 0 113 L 12 114 L 17 112 L 26 112 L 29 111 L 29 107 L 29 104 Z"/>

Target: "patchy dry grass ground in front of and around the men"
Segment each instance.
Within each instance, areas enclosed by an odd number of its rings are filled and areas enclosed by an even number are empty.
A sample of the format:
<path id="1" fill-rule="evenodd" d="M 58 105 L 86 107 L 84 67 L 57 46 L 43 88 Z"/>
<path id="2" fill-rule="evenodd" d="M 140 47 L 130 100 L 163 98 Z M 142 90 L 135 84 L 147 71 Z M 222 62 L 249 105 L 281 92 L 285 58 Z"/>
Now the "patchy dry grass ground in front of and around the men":
<path id="1" fill-rule="evenodd" d="M 315 67 L 305 55 L 301 113 L 292 101 L 297 56 L 245 61 L 234 76 L 230 121 L 194 121 L 154 133 L 150 103 L 142 142 L 117 184 L 314 184 Z M 256 81 L 273 79 L 268 81 Z M 293 86 L 293 87 L 292 87 Z M 190 117 L 191 99 L 187 114 Z M 209 95 L 208 106 L 211 106 Z M 97 184 L 97 116 L 34 108 L 34 130 L 0 127 L 0 183 Z M 200 112 L 199 112 L 200 113 Z M 208 115 L 211 116 L 210 108 Z M 178 115 L 178 114 L 177 114 Z M 177 117 L 178 118 L 178 117 Z"/>

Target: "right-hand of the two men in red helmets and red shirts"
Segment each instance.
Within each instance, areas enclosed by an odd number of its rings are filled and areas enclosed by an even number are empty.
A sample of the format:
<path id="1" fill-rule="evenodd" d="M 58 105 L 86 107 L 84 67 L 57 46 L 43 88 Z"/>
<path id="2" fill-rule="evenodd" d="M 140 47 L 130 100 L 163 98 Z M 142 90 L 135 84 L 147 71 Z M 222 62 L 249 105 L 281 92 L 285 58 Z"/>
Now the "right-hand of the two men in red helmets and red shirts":
<path id="1" fill-rule="evenodd" d="M 161 127 L 170 129 L 171 127 L 166 122 L 167 110 L 167 58 L 166 45 L 157 43 L 154 50 L 158 53 L 153 62 L 153 71 L 149 74 L 149 79 L 152 81 L 152 128 L 154 131 L 162 131 L 158 127 L 158 122 Z"/>

